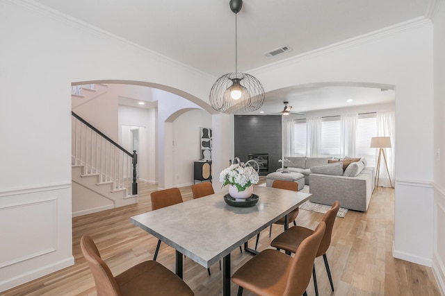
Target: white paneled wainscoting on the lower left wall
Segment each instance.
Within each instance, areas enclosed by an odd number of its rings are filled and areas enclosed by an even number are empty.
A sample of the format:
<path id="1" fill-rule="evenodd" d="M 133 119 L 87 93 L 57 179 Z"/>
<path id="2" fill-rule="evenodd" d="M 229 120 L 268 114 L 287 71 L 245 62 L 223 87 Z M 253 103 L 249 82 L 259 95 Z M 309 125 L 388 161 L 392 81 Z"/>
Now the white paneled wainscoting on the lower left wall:
<path id="1" fill-rule="evenodd" d="M 74 264 L 71 183 L 0 191 L 0 292 Z"/>

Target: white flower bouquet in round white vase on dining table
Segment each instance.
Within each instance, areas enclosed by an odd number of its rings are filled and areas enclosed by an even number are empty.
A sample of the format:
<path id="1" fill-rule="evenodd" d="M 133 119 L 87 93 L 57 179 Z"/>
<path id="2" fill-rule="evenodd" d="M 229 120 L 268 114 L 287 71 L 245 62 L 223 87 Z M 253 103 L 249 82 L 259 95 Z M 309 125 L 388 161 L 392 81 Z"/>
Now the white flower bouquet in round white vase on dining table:
<path id="1" fill-rule="evenodd" d="M 257 170 L 252 164 L 257 165 Z M 220 173 L 220 182 L 223 186 L 229 185 L 229 194 L 238 201 L 249 198 L 253 192 L 253 185 L 259 182 L 259 165 L 254 160 L 245 164 L 235 157 L 234 164 Z"/>

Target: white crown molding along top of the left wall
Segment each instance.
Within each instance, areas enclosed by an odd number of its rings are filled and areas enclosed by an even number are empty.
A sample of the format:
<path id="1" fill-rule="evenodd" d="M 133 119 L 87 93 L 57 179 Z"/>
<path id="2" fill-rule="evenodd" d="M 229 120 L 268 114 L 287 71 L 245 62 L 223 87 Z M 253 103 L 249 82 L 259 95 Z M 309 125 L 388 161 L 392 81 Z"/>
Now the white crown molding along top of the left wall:
<path id="1" fill-rule="evenodd" d="M 139 44 L 131 42 L 123 37 L 120 37 L 118 35 L 115 35 L 113 33 L 105 31 L 105 30 L 98 28 L 96 26 L 92 26 L 91 24 L 88 24 L 85 21 L 81 21 L 80 19 L 76 19 L 75 17 L 71 17 L 70 15 L 65 15 L 63 12 L 60 12 L 60 11 L 50 8 L 48 6 L 44 6 L 44 5 L 42 5 L 38 2 L 35 2 L 33 0 L 0 0 L 0 2 L 9 3 L 10 5 L 13 5 L 13 6 L 20 6 L 22 8 L 25 8 L 26 10 L 34 12 L 38 15 L 42 15 L 44 17 L 49 17 L 51 19 L 54 19 L 55 21 L 63 23 L 67 26 L 71 26 L 72 28 L 76 28 L 80 31 L 84 31 L 84 32 L 90 33 L 92 35 L 97 35 L 97 37 L 102 37 L 107 40 L 111 40 L 113 42 L 119 43 L 119 44 L 124 44 L 125 46 L 133 47 L 133 49 L 138 49 L 139 51 L 143 52 L 145 55 L 149 55 L 150 58 L 156 58 L 157 60 L 160 60 L 161 62 L 168 62 L 170 64 L 175 64 L 176 66 L 185 68 L 188 71 L 193 71 L 195 73 L 199 73 L 200 75 L 207 76 L 207 77 L 213 79 L 213 76 L 209 75 L 209 73 L 205 73 L 203 71 L 195 69 L 195 68 L 189 66 L 188 64 L 181 63 L 177 60 L 173 60 L 172 58 L 168 58 L 167 56 L 162 55 L 161 53 L 147 49 L 144 46 L 141 46 Z"/>

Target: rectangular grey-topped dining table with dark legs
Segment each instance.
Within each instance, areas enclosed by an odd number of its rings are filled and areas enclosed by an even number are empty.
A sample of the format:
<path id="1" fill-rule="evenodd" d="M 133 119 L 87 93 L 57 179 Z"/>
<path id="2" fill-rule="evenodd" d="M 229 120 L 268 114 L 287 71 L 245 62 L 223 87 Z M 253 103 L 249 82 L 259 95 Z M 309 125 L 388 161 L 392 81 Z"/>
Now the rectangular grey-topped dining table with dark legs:
<path id="1" fill-rule="evenodd" d="M 222 259 L 224 296 L 230 295 L 230 253 L 242 245 L 255 253 L 248 248 L 248 240 L 280 218 L 287 220 L 287 214 L 311 197 L 300 191 L 254 186 L 252 196 L 257 203 L 243 207 L 242 203 L 227 204 L 227 194 L 221 191 L 130 218 L 131 223 L 176 250 L 175 272 L 181 278 L 184 256 L 204 268 Z"/>

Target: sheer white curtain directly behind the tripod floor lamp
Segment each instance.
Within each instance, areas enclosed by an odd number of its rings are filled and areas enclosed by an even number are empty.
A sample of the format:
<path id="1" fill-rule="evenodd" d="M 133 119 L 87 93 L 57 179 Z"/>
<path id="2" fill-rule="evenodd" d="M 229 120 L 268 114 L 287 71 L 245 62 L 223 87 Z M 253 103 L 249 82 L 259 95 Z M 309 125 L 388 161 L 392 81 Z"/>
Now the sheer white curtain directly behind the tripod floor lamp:
<path id="1" fill-rule="evenodd" d="M 383 155 L 380 157 L 380 174 L 379 174 L 379 186 L 391 187 L 394 186 L 394 151 L 396 143 L 396 119 L 394 112 L 377 112 L 377 137 L 389 137 L 391 139 L 391 148 L 383 148 L 385 150 L 385 155 L 387 159 L 389 177 L 391 177 L 391 182 L 389 182 L 387 167 L 385 166 L 385 159 Z M 375 168 L 377 169 L 378 162 L 378 152 L 379 149 L 375 149 Z M 378 172 L 376 171 L 375 174 Z"/>

